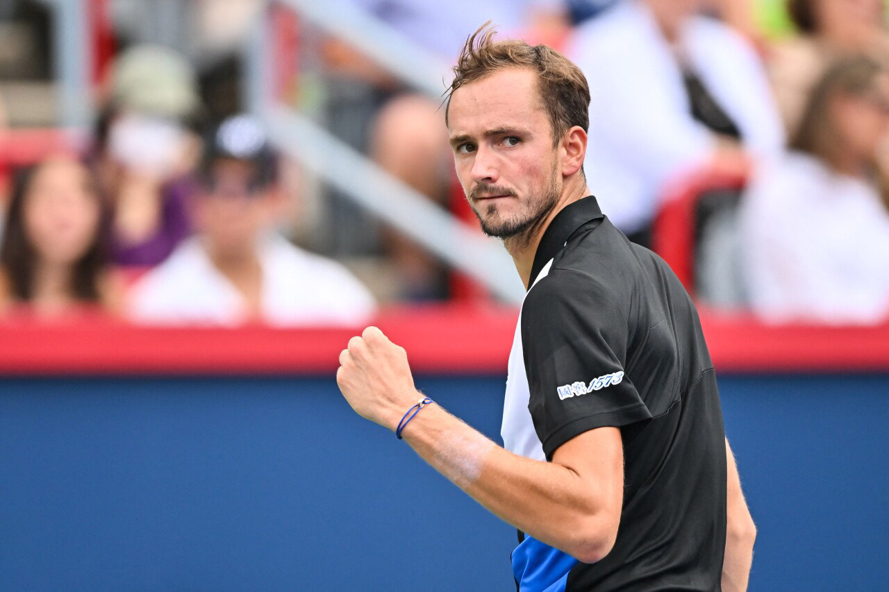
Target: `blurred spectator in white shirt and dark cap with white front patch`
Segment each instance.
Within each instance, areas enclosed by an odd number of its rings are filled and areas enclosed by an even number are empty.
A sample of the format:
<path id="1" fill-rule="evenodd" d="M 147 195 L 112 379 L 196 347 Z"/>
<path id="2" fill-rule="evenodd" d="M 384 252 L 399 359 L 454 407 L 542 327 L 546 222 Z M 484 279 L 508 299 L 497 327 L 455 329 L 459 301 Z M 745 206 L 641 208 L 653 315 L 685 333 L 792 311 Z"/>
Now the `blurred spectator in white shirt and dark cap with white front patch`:
<path id="1" fill-rule="evenodd" d="M 361 324 L 372 296 L 345 268 L 274 235 L 276 157 L 259 124 L 233 116 L 208 140 L 197 236 L 134 286 L 132 318 L 154 324 Z"/>

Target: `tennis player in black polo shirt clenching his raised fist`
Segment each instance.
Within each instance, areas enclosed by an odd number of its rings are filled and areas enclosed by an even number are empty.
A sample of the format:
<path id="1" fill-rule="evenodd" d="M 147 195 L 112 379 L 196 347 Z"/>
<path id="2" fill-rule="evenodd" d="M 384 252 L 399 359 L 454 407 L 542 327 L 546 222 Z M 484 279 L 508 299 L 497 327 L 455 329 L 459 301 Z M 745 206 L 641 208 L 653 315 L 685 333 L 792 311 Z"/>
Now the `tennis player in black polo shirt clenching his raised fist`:
<path id="1" fill-rule="evenodd" d="M 701 324 L 663 260 L 590 196 L 581 70 L 484 27 L 454 69 L 457 174 L 527 288 L 505 447 L 421 395 L 375 327 L 340 355 L 343 395 L 517 527 L 523 592 L 745 589 L 756 529 Z"/>

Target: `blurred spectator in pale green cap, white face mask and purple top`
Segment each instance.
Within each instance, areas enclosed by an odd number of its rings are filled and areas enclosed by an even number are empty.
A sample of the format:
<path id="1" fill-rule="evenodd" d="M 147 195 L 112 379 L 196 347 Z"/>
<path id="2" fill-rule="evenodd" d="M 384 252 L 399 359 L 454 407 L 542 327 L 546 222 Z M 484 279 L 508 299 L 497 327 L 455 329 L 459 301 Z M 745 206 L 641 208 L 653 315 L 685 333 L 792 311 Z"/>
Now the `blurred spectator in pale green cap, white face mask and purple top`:
<path id="1" fill-rule="evenodd" d="M 188 62 L 162 47 L 124 52 L 96 132 L 95 166 L 113 207 L 111 256 L 120 265 L 163 261 L 190 232 L 188 180 L 200 153 Z"/>

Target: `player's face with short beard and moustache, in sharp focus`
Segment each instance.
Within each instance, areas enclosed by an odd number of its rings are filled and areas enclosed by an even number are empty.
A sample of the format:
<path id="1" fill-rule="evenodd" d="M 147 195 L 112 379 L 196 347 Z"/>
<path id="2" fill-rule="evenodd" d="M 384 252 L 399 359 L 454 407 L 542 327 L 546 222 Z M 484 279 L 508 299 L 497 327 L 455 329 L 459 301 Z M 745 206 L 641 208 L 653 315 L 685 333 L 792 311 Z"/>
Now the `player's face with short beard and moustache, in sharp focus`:
<path id="1" fill-rule="evenodd" d="M 537 74 L 504 68 L 457 89 L 448 108 L 454 165 L 489 236 L 527 236 L 562 191 Z"/>

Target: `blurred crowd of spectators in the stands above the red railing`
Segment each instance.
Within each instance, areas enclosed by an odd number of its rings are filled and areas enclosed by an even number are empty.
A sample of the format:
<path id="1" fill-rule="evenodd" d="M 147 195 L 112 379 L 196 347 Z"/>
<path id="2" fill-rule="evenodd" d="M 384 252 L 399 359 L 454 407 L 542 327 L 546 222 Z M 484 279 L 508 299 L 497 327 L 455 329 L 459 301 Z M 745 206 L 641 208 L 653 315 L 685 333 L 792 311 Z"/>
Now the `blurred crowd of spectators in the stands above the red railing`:
<path id="1" fill-rule="evenodd" d="M 889 320 L 884 0 L 348 2 L 445 63 L 486 20 L 565 52 L 592 94 L 589 187 L 650 247 L 678 240 L 661 213 L 691 200 L 701 302 L 773 323 Z M 45 29 L 39 4 L 0 6 L 0 38 L 14 23 Z M 316 187 L 244 114 L 237 25 L 263 3 L 201 4 L 194 30 L 216 33 L 202 51 L 120 17 L 89 141 L 7 172 L 4 314 L 352 325 L 380 303 L 465 298 L 459 274 Z M 34 39 L 34 55 L 49 51 Z M 316 40 L 331 132 L 466 219 L 439 101 L 348 39 Z M 0 115 L 14 130 L 7 61 Z"/>

